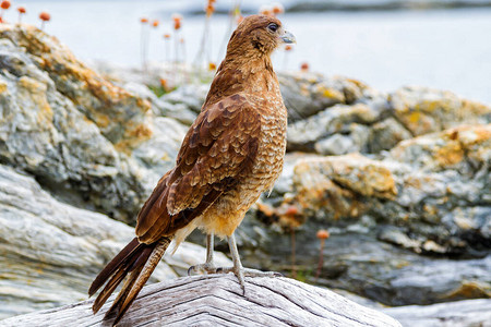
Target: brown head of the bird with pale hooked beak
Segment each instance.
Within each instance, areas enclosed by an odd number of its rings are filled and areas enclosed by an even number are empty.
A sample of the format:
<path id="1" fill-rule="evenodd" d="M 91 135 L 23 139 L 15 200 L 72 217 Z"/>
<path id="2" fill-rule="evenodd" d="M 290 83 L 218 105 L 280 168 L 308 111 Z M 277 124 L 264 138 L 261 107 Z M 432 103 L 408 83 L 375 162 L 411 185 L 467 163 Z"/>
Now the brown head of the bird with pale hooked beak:
<path id="1" fill-rule="evenodd" d="M 242 57 L 270 56 L 283 44 L 296 43 L 295 36 L 285 31 L 282 22 L 266 15 L 246 17 L 230 37 L 227 56 L 240 53 Z"/>

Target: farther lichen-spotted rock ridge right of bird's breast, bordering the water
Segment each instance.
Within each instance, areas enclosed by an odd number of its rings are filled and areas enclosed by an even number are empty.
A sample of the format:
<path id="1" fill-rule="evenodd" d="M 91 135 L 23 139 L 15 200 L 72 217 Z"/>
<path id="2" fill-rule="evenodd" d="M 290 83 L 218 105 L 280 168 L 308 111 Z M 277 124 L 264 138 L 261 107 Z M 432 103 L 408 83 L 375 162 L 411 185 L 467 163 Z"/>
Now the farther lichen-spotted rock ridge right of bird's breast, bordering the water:
<path id="1" fill-rule="evenodd" d="M 306 90 L 302 99 L 307 94 L 315 93 Z M 285 99 L 288 107 L 286 96 Z M 384 96 L 370 90 L 351 102 L 325 104 L 310 117 L 290 120 L 288 149 L 321 155 L 376 154 L 414 136 L 464 123 L 490 122 L 491 108 L 450 92 L 405 87 Z"/>

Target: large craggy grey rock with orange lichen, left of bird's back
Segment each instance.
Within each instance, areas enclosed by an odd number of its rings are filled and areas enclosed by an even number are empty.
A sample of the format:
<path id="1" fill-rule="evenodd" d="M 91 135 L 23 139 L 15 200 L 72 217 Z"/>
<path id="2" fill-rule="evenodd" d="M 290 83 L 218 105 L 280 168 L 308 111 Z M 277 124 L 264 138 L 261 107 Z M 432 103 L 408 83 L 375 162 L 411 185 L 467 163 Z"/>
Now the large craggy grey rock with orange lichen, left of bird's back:
<path id="1" fill-rule="evenodd" d="M 0 37 L 0 161 L 65 202 L 134 221 L 185 128 L 33 26 L 2 24 Z"/>

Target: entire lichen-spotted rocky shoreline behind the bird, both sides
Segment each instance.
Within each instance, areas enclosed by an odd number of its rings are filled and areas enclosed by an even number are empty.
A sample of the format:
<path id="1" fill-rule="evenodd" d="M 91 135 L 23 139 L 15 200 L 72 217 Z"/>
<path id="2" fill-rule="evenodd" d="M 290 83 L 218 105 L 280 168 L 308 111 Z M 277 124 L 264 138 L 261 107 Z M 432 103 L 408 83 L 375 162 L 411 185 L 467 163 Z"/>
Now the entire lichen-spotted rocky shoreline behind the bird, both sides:
<path id="1" fill-rule="evenodd" d="M 489 307 L 491 108 L 426 87 L 384 94 L 342 76 L 278 77 L 288 154 L 274 191 L 238 230 L 246 264 L 375 307 L 447 302 L 433 318 L 428 308 L 428 322 L 444 320 L 455 301 Z M 173 165 L 207 92 L 202 83 L 151 90 L 170 78 L 165 66 L 143 76 L 92 70 L 34 27 L 0 26 L 0 318 L 85 299 L 131 239 L 122 222 L 134 222 Z M 315 278 L 319 229 L 331 237 Z M 203 258 L 187 244 L 155 280 Z M 409 324 L 415 307 L 404 307 L 393 313 Z M 463 326 L 476 323 L 463 316 Z"/>

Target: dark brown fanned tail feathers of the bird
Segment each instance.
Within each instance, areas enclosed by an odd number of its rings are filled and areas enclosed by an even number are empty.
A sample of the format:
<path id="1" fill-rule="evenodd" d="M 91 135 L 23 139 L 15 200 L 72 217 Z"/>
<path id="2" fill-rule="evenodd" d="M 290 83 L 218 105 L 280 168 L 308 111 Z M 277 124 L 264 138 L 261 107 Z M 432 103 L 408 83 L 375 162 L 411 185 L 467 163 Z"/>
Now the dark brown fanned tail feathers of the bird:
<path id="1" fill-rule="evenodd" d="M 166 237 L 155 243 L 144 244 L 140 243 L 137 238 L 134 238 L 121 250 L 99 272 L 88 289 L 88 295 L 92 296 L 107 281 L 92 306 L 94 313 L 99 311 L 118 284 L 128 276 L 121 291 L 105 316 L 105 318 L 110 318 L 116 315 L 113 322 L 116 325 L 148 280 L 171 241 L 172 238 Z"/>

